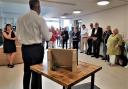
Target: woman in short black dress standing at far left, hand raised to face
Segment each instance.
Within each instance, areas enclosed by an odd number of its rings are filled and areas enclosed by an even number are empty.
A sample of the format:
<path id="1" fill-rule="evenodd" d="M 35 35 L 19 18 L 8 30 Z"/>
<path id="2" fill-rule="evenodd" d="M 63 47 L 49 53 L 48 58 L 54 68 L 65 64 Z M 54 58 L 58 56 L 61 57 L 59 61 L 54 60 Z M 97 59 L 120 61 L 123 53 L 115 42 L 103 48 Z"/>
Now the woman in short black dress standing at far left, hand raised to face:
<path id="1" fill-rule="evenodd" d="M 3 49 L 4 53 L 7 54 L 7 58 L 9 61 L 8 67 L 13 68 L 13 60 L 15 57 L 15 52 L 16 52 L 16 36 L 12 30 L 11 24 L 6 24 L 5 30 L 3 32 L 3 37 L 4 37 L 4 44 L 3 44 Z"/>

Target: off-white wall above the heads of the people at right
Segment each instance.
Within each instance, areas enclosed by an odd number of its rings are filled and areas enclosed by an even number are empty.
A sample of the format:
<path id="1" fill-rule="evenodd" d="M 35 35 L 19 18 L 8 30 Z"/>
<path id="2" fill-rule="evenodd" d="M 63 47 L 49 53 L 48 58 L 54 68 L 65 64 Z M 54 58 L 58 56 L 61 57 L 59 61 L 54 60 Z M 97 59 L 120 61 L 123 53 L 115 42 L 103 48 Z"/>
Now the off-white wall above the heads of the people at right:
<path id="1" fill-rule="evenodd" d="M 128 5 L 112 8 L 99 13 L 87 15 L 82 18 L 83 23 L 89 28 L 90 23 L 98 22 L 102 28 L 107 25 L 118 28 L 121 34 L 128 34 Z"/>

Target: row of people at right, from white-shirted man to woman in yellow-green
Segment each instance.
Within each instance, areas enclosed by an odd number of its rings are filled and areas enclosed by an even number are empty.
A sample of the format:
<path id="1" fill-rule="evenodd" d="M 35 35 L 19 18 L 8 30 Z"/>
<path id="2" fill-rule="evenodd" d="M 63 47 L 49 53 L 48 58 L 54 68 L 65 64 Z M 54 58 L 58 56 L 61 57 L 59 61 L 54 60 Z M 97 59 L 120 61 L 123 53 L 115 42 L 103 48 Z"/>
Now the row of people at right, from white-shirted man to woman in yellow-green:
<path id="1" fill-rule="evenodd" d="M 83 31 L 84 30 L 84 31 Z M 80 53 L 85 52 L 91 57 L 99 58 L 100 44 L 103 43 L 103 60 L 108 60 L 110 65 L 118 63 L 119 55 L 122 53 L 122 36 L 117 28 L 111 30 L 111 26 L 107 26 L 105 30 L 99 27 L 98 23 L 90 24 L 90 33 L 85 25 L 81 29 L 81 47 Z M 85 47 L 85 50 L 83 50 Z"/>

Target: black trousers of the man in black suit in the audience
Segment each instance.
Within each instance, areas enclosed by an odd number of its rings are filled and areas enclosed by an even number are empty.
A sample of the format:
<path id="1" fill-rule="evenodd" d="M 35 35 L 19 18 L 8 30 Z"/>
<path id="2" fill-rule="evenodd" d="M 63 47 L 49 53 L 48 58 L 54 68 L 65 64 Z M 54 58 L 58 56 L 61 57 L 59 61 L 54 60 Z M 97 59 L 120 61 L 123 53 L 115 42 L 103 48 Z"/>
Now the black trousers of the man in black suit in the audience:
<path id="1" fill-rule="evenodd" d="M 95 57 L 99 57 L 100 43 L 101 43 L 100 40 L 93 41 L 93 55 Z"/>

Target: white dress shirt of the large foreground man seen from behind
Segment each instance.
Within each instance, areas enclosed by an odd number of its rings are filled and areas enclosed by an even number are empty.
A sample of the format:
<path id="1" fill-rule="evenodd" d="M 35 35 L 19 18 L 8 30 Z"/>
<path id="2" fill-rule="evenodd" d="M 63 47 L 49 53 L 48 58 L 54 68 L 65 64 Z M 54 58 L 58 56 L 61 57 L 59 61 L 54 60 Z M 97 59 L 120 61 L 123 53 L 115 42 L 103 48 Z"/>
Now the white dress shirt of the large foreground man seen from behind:
<path id="1" fill-rule="evenodd" d="M 24 45 L 32 45 L 50 40 L 45 20 L 31 10 L 17 21 L 16 36 Z"/>

